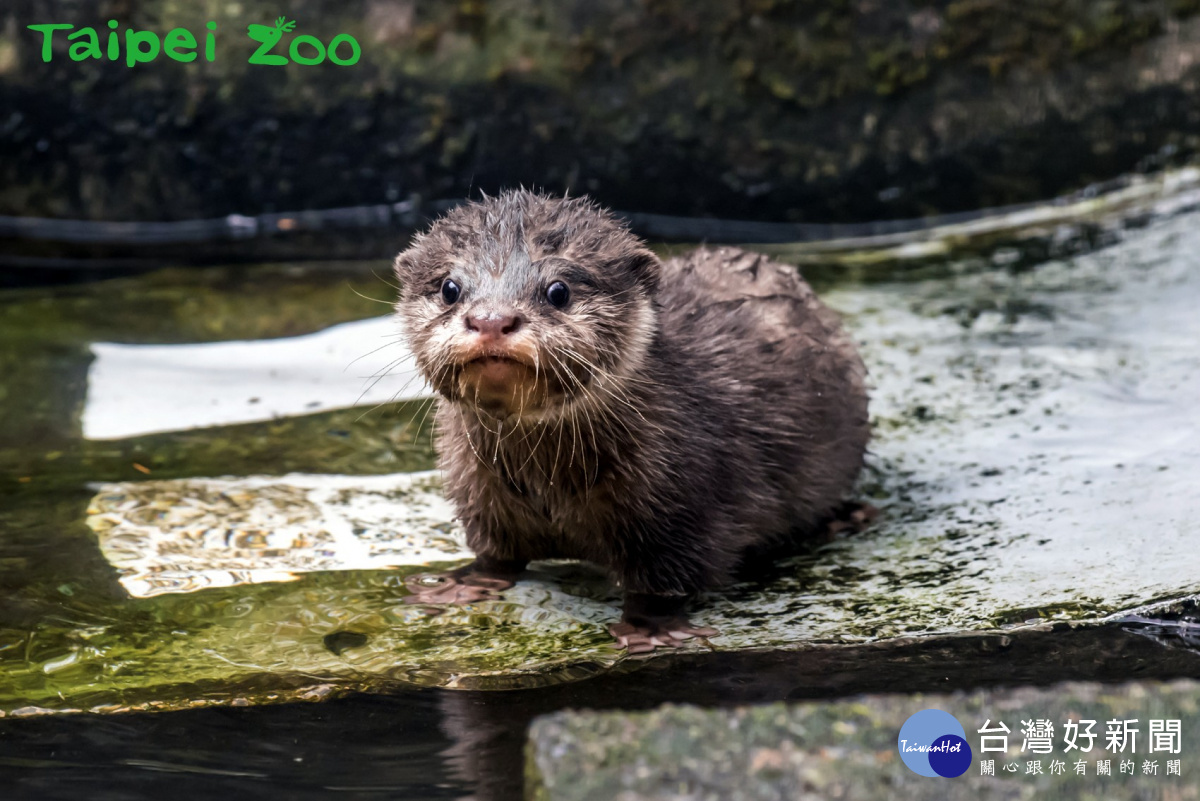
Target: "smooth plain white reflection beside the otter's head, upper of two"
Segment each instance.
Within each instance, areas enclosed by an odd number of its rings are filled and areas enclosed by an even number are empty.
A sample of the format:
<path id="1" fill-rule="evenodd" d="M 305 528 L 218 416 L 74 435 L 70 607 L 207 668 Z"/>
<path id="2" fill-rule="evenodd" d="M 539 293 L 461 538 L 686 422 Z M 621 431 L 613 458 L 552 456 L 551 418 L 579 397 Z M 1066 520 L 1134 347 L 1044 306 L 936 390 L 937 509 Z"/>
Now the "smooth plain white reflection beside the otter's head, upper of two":
<path id="1" fill-rule="evenodd" d="M 383 317 L 258 342 L 97 342 L 83 435 L 121 439 L 422 397 L 427 387 L 398 337 L 395 319 Z"/>

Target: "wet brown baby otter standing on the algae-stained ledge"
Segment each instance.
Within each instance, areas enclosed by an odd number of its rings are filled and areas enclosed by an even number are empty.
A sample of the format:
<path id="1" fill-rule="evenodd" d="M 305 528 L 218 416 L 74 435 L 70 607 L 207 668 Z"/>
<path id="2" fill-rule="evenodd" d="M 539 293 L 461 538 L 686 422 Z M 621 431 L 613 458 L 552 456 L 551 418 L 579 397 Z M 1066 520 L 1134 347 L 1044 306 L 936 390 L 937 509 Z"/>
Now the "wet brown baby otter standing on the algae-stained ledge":
<path id="1" fill-rule="evenodd" d="M 676 645 L 713 633 L 691 596 L 821 530 L 862 469 L 866 371 L 794 267 L 662 261 L 586 198 L 517 191 L 448 212 L 395 269 L 476 555 L 426 602 L 581 559 L 624 588 L 622 645 Z"/>

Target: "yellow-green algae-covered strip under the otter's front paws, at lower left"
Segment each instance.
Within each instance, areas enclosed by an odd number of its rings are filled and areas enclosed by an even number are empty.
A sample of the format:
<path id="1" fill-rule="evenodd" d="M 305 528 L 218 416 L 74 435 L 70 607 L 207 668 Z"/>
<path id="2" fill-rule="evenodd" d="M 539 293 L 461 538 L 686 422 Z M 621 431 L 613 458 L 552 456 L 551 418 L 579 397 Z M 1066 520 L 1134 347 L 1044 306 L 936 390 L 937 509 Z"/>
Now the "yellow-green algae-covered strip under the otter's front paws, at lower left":
<path id="1" fill-rule="evenodd" d="M 583 675 L 571 670 L 580 654 L 589 654 L 593 669 L 617 660 L 614 651 L 596 658 L 596 646 L 607 646 L 602 626 L 580 626 L 570 598 L 558 603 L 551 586 L 431 615 L 403 602 L 403 579 L 398 570 L 308 573 L 287 584 L 125 602 L 73 625 L 6 630 L 0 705 L 30 715 L 258 703 L 400 683 L 536 686 L 556 673 Z M 542 614 L 530 614 L 546 600 Z M 522 631 L 530 622 L 535 634 Z M 338 634 L 361 645 L 331 648 Z"/>

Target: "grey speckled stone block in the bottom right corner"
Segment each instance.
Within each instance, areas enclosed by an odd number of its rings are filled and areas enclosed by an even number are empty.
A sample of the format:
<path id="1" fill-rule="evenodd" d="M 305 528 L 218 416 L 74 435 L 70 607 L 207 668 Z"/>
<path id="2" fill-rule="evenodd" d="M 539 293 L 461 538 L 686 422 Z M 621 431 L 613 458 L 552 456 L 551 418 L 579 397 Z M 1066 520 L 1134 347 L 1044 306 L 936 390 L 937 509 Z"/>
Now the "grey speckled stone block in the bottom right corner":
<path id="1" fill-rule="evenodd" d="M 925 709 L 952 713 L 966 731 L 974 754 L 956 778 L 918 776 L 900 759 L 898 733 Z M 1200 686 L 1193 681 L 865 695 L 733 710 L 667 705 L 644 713 L 559 712 L 530 729 L 527 797 L 1186 799 L 1195 794 L 1196 767 L 1182 733 L 1195 736 L 1198 715 Z M 1081 753 L 1088 741 L 1078 737 L 1076 749 L 1067 751 L 1062 724 L 1087 719 L 1097 734 L 1090 751 Z M 1122 733 L 1126 721 L 1139 731 L 1135 742 L 1122 734 L 1123 751 L 1105 737 L 1105 723 L 1114 719 Z M 1152 719 L 1178 722 L 1180 739 L 1156 742 Z M 1034 721 L 1051 722 L 1050 751 L 1024 748 L 1022 722 Z M 1001 723 L 1010 734 L 988 740 L 997 751 L 982 752 L 978 729 Z M 1158 749 L 1151 751 L 1153 745 Z M 994 775 L 982 775 L 985 759 L 992 760 Z M 1110 775 L 1099 772 L 1104 760 Z M 1169 761 L 1175 773 L 1168 772 Z M 1034 763 L 1038 769 L 1030 767 Z"/>

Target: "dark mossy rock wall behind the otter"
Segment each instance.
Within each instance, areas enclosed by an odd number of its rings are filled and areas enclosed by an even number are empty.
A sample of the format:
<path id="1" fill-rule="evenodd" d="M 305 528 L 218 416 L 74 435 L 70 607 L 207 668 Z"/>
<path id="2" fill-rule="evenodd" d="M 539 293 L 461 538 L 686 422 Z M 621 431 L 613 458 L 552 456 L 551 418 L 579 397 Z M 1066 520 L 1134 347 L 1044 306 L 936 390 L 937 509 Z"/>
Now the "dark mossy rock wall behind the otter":
<path id="1" fill-rule="evenodd" d="M 630 211 L 916 217 L 1200 149 L 1195 0 L 13 0 L 0 213 L 185 219 L 516 183 Z M 251 66 L 250 23 L 362 44 Z M 211 62 L 40 58 L 30 23 L 220 25 Z M 287 40 L 284 40 L 287 41 Z"/>

